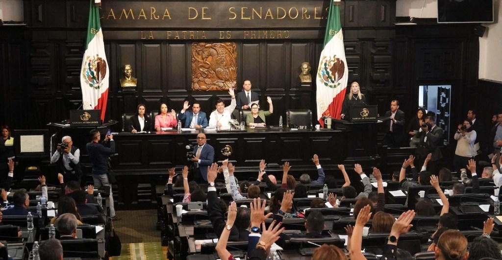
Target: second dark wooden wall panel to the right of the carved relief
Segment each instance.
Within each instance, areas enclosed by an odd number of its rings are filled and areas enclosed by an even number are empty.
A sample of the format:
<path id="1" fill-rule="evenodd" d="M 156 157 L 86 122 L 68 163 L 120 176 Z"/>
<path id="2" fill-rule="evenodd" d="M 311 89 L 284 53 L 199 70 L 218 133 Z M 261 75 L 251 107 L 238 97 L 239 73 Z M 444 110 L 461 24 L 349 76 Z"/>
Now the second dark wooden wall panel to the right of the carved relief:
<path id="1" fill-rule="evenodd" d="M 265 73 L 266 86 L 268 90 L 289 89 L 289 73 L 286 72 L 288 61 L 286 58 L 285 43 L 268 43 L 266 45 L 266 65 Z M 289 67 L 289 66 L 288 66 Z M 288 79 L 288 80 L 287 80 Z"/>

